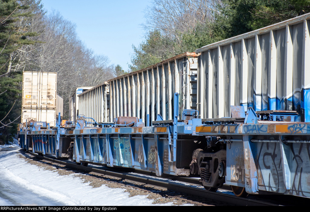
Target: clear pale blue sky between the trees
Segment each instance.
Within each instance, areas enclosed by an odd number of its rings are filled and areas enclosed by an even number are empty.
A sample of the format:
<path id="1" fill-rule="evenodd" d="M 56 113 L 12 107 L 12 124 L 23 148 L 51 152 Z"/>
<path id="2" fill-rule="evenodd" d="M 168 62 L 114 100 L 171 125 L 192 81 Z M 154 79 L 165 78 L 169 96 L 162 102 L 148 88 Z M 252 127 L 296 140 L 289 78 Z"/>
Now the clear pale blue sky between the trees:
<path id="1" fill-rule="evenodd" d="M 108 56 L 111 64 L 126 71 L 133 53 L 132 44 L 144 40 L 144 10 L 151 0 L 42 0 L 44 10 L 58 10 L 76 24 L 79 38 L 95 54 Z M 128 63 L 128 64 L 127 64 Z"/>

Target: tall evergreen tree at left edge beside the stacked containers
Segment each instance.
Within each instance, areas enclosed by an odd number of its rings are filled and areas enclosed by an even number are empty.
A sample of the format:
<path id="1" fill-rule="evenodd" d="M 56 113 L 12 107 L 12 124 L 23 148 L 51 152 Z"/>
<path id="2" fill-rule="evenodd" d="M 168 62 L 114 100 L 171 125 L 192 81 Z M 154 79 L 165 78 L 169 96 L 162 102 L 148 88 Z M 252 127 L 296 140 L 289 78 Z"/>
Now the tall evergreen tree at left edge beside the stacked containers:
<path id="1" fill-rule="evenodd" d="M 29 2 L 0 0 L 0 144 L 12 141 L 20 121 L 22 72 L 16 71 L 20 57 L 14 52 L 34 43 L 28 37 L 36 33 L 22 25 L 22 18 L 31 15 L 28 8 Z"/>

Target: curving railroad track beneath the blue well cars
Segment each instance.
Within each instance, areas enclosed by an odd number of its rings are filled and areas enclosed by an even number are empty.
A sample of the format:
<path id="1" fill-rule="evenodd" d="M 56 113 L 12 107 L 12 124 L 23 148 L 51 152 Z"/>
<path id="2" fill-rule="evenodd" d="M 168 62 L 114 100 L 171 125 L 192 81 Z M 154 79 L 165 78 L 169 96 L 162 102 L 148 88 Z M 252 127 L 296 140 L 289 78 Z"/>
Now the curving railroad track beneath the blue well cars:
<path id="1" fill-rule="evenodd" d="M 201 187 L 199 180 L 193 179 L 193 178 L 169 177 L 170 179 L 167 179 L 167 178 L 160 178 L 160 177 L 154 177 L 154 176 L 146 176 L 142 174 L 141 172 L 140 173 L 124 172 L 124 168 L 122 168 L 121 171 L 117 169 L 116 170 L 113 169 L 113 171 L 111 171 L 111 170 L 108 170 L 110 168 L 101 168 L 101 167 L 95 167 L 95 166 L 85 167 L 85 166 L 77 165 L 69 160 L 64 161 L 64 160 L 57 160 L 52 157 L 38 156 L 37 154 L 34 154 L 32 152 L 29 152 L 29 154 L 37 157 L 40 160 L 47 160 L 53 163 L 62 164 L 62 165 L 65 165 L 73 169 L 82 170 L 84 172 L 88 172 L 88 173 L 93 172 L 93 173 L 103 174 L 105 176 L 116 177 L 122 180 L 137 182 L 139 184 L 142 183 L 144 185 L 155 186 L 155 187 L 167 189 L 168 191 L 182 193 L 182 194 L 185 194 L 185 197 L 182 197 L 183 199 L 187 198 L 188 196 L 191 196 L 189 199 L 194 199 L 194 201 L 189 201 L 188 203 L 192 203 L 194 205 L 210 205 L 210 203 L 212 205 L 235 205 L 235 206 L 279 206 L 281 205 L 281 204 L 274 204 L 274 203 L 265 202 L 263 200 L 257 200 L 257 199 L 252 199 L 252 198 L 236 197 L 234 195 L 229 195 L 226 193 L 206 191 L 203 188 L 199 188 Z M 133 169 L 129 169 L 129 170 L 133 170 Z M 170 196 L 169 194 L 166 195 L 166 197 L 169 197 L 169 196 Z M 205 200 L 205 201 L 201 201 L 201 200 Z"/>

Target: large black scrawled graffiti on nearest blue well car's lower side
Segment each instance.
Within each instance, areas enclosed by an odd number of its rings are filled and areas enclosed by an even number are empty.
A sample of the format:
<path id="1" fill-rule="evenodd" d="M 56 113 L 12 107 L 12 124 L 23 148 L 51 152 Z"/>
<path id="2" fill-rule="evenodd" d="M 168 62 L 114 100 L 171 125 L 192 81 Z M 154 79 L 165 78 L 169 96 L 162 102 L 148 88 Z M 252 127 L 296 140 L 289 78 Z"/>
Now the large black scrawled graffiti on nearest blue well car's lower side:
<path id="1" fill-rule="evenodd" d="M 290 149 L 290 151 L 285 151 L 289 159 L 290 176 L 287 176 L 287 184 L 289 184 L 287 186 L 290 190 L 286 190 L 280 145 L 282 144 L 270 142 L 258 144 L 259 185 L 262 185 L 266 191 L 309 197 L 309 192 L 305 191 L 310 189 L 309 179 L 307 178 L 310 172 L 310 144 L 283 144 L 285 145 L 284 149 Z"/>

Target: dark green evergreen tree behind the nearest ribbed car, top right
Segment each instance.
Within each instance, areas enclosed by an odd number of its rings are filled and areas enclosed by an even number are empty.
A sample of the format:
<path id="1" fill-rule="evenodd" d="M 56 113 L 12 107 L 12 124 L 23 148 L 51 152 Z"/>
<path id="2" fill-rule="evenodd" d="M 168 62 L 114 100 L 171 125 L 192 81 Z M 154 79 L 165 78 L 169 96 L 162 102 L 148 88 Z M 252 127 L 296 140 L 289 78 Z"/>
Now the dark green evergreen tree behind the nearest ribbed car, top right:
<path id="1" fill-rule="evenodd" d="M 309 0 L 223 0 L 215 34 L 227 39 L 310 12 Z"/>

